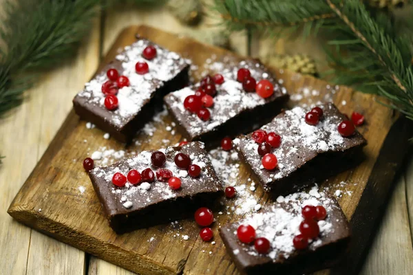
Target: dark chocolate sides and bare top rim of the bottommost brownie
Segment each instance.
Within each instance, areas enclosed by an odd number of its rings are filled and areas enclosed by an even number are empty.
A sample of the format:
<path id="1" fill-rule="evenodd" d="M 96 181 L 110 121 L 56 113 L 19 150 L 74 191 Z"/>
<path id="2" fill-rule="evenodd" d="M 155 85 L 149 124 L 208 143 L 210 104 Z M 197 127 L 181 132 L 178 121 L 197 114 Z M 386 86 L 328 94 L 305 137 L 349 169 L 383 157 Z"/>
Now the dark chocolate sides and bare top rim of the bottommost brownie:
<path id="1" fill-rule="evenodd" d="M 334 206 L 328 211 L 326 221 L 332 224 L 331 232 L 319 236 L 321 243 L 316 248 L 294 250 L 288 257 L 284 257 L 282 253 L 279 253 L 275 259 L 263 254 L 248 254 L 248 251 L 254 250 L 253 244 L 241 243 L 234 234 L 240 223 L 230 223 L 220 228 L 222 241 L 238 270 L 242 274 L 308 274 L 337 263 L 348 249 L 350 228 L 337 201 L 332 197 L 330 199 L 334 202 Z M 268 207 L 264 212 L 271 212 Z M 288 208 L 288 202 L 275 202 L 274 207 L 294 212 Z M 299 212 L 296 214 L 301 215 Z M 238 253 L 235 254 L 234 250 Z"/>

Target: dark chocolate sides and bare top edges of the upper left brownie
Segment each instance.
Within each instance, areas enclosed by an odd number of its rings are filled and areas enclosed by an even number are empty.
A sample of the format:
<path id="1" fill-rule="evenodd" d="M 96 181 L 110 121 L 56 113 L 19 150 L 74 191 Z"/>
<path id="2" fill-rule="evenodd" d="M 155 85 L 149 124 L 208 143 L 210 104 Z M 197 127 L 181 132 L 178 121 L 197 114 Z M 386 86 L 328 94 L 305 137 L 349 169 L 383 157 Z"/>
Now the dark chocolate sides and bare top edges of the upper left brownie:
<path id="1" fill-rule="evenodd" d="M 145 39 L 138 39 L 138 41 L 139 40 L 145 41 L 145 43 L 153 44 Z M 165 50 L 162 47 L 159 48 Z M 165 52 L 167 52 L 167 50 L 165 50 Z M 151 88 L 149 89 L 150 96 L 142 102 L 142 107 L 140 110 L 131 116 L 131 118 L 123 120 L 120 124 L 115 124 L 113 122 L 113 111 L 109 111 L 104 106 L 96 104 L 95 102 L 89 102 L 89 98 L 80 96 L 82 92 L 76 95 L 73 99 L 74 111 L 76 111 L 81 119 L 96 124 L 98 128 L 110 133 L 112 137 L 116 138 L 116 140 L 119 140 L 120 142 L 130 142 L 136 131 L 141 129 L 149 120 L 151 120 L 157 110 L 162 109 L 163 97 L 171 91 L 181 89 L 189 82 L 189 65 L 187 63 L 182 63 L 182 58 L 168 59 L 166 56 L 159 56 L 157 58 L 160 58 L 160 61 L 164 63 L 172 60 L 173 65 L 178 67 L 178 70 L 176 70 L 177 73 L 174 74 L 175 71 L 173 71 L 171 73 L 171 78 L 163 82 L 157 79 L 148 80 L 151 85 Z M 119 75 L 122 75 L 124 71 L 122 64 L 123 61 L 112 61 L 106 65 L 94 79 L 104 75 L 107 72 L 107 69 L 110 68 L 117 69 Z M 150 74 L 150 72 L 151 71 L 149 68 L 148 74 Z"/>

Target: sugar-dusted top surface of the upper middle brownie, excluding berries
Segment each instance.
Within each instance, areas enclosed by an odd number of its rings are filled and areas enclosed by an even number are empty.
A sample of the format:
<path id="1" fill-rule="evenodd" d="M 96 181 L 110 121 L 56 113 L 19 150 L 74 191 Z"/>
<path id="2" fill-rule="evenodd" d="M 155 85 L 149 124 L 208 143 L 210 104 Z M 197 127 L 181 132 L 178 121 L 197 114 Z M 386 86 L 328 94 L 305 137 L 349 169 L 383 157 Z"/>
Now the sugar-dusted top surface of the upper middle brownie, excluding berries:
<path id="1" fill-rule="evenodd" d="M 242 83 L 237 82 L 237 71 L 240 68 L 248 68 L 255 80 L 268 79 L 274 85 L 274 94 L 269 98 L 261 98 L 255 92 L 246 92 L 242 89 Z M 239 115 L 243 111 L 254 109 L 259 105 L 273 102 L 286 96 L 287 91 L 278 85 L 273 75 L 256 60 L 246 60 L 234 63 L 227 61 L 222 67 L 216 68 L 218 74 L 224 76 L 222 85 L 215 85 L 217 94 L 214 98 L 213 107 L 209 108 L 211 119 L 204 122 L 196 114 L 191 114 L 184 109 L 184 99 L 195 94 L 200 86 L 198 83 L 193 87 L 185 87 L 165 96 L 165 104 L 175 113 L 180 124 L 188 131 L 191 138 L 212 131 L 224 124 L 227 120 Z"/>

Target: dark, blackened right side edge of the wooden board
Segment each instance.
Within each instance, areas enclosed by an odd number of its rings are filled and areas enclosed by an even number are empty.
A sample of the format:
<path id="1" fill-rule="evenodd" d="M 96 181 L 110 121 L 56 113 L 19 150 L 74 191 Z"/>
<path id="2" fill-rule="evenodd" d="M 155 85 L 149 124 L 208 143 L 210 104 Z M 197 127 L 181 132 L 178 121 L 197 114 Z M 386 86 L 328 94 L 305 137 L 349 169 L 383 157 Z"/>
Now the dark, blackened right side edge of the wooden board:
<path id="1" fill-rule="evenodd" d="M 377 225 L 392 195 L 394 181 L 401 173 L 401 167 L 408 155 L 409 138 L 412 136 L 412 122 L 400 116 L 385 137 L 359 204 L 350 219 L 353 234 L 349 252 L 341 264 L 330 271 L 330 275 L 360 272 L 368 248 L 377 232 Z M 378 184 L 381 184 L 380 188 Z"/>

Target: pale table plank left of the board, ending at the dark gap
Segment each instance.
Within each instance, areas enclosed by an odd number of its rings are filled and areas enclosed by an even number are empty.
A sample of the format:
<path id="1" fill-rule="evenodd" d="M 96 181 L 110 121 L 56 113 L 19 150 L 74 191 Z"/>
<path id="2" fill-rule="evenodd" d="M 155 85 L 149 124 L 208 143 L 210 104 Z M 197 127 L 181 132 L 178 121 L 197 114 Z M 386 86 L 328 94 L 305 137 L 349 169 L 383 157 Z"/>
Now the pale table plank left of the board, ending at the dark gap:
<path id="1" fill-rule="evenodd" d="M 71 100 L 83 88 L 99 62 L 99 20 L 73 61 L 45 74 L 38 86 L 28 93 L 22 108 L 2 122 L 1 146 L 8 156 L 0 170 L 0 182 L 7 192 L 0 199 L 0 270 L 4 274 L 83 274 L 85 253 L 39 232 L 22 228 L 7 217 L 7 204 L 50 144 L 62 121 L 72 108 Z M 50 104 L 54 102 L 54 104 Z M 17 185 L 18 184 L 18 185 Z M 8 248 L 8 249 L 6 249 Z M 3 266 L 6 265 L 6 266 Z"/>

